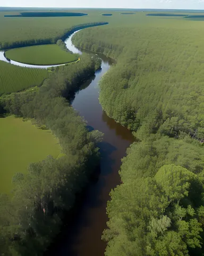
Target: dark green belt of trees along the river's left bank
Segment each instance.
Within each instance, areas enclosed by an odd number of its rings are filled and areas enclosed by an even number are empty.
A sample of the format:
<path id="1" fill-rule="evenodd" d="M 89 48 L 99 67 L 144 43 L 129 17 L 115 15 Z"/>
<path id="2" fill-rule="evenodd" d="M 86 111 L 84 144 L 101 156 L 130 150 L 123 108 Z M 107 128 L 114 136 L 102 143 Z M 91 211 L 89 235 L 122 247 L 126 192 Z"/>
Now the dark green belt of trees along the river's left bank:
<path id="1" fill-rule="evenodd" d="M 42 255 L 60 230 L 63 212 L 71 209 L 98 166 L 103 134 L 88 132 L 68 101 L 96 67 L 91 55 L 84 54 L 80 62 L 57 68 L 40 88 L 0 98 L 1 111 L 51 130 L 62 148 L 61 157 L 48 156 L 30 163 L 27 174 L 16 173 L 12 195 L 0 195 L 1 255 Z"/>

